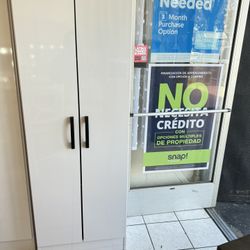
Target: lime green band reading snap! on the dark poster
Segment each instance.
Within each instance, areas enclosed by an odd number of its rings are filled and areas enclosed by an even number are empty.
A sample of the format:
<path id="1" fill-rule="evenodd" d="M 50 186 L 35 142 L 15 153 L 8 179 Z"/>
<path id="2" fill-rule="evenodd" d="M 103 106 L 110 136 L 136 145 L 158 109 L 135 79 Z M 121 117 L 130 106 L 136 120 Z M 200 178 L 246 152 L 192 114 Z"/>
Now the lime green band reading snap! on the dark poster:
<path id="1" fill-rule="evenodd" d="M 210 160 L 211 150 L 165 151 L 144 154 L 144 166 L 169 166 L 180 164 L 207 163 Z"/>

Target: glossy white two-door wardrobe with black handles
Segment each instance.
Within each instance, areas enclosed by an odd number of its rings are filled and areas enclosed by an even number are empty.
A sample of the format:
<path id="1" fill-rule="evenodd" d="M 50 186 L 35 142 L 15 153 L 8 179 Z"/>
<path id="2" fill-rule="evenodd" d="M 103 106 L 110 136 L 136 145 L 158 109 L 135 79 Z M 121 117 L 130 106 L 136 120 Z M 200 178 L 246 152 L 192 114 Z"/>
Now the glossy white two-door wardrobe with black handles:
<path id="1" fill-rule="evenodd" d="M 38 249 L 123 249 L 132 0 L 11 2 Z"/>

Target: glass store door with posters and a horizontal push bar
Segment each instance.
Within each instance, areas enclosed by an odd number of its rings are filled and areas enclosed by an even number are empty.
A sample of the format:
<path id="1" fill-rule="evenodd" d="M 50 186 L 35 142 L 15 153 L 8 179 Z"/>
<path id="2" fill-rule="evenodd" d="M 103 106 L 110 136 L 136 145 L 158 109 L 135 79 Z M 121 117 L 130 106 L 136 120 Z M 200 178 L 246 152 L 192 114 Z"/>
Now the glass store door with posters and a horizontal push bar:
<path id="1" fill-rule="evenodd" d="M 213 205 L 243 5 L 237 0 L 136 1 L 130 215 Z M 170 198 L 175 202 L 169 204 Z"/>

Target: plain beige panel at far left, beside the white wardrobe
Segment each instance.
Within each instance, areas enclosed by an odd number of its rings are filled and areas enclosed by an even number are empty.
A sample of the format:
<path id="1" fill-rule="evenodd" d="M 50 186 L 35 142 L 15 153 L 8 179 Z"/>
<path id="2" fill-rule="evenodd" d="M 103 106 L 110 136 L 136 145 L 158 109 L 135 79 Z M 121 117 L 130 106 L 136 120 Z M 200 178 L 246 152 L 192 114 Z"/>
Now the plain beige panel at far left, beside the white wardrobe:
<path id="1" fill-rule="evenodd" d="M 23 138 L 12 62 L 7 1 L 0 0 L 0 249 L 7 241 L 32 239 Z"/>

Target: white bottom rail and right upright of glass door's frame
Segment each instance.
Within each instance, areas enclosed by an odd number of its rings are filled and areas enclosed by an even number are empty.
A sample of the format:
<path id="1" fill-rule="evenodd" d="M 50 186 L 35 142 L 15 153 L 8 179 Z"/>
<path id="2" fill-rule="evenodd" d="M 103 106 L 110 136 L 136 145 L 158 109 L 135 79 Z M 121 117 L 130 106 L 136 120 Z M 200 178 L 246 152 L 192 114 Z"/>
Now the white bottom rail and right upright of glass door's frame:
<path id="1" fill-rule="evenodd" d="M 249 0 L 239 1 L 234 39 L 230 55 L 227 89 L 223 108 L 232 109 L 238 69 L 248 17 Z M 127 215 L 163 213 L 215 207 L 222 172 L 231 113 L 222 114 L 217 142 L 213 181 L 165 187 L 139 188 L 128 191 Z M 218 153 L 219 152 L 219 153 Z"/>

